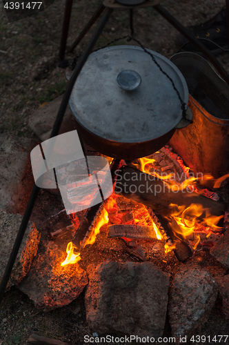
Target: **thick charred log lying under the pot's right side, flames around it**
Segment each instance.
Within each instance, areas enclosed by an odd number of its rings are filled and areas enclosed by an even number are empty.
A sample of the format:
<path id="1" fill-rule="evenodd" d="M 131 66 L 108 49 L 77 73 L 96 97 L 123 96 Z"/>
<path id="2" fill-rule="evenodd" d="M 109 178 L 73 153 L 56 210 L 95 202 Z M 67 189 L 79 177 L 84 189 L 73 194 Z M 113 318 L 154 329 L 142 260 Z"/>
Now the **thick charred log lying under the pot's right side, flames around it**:
<path id="1" fill-rule="evenodd" d="M 217 201 L 203 197 L 187 188 L 175 188 L 174 190 L 167 188 L 162 179 L 128 166 L 123 166 L 119 170 L 115 193 L 140 202 L 158 212 L 162 208 L 168 209 L 170 204 L 186 207 L 191 204 L 201 204 L 204 209 L 208 208 L 210 214 L 215 216 L 223 215 L 225 210 L 225 206 Z"/>

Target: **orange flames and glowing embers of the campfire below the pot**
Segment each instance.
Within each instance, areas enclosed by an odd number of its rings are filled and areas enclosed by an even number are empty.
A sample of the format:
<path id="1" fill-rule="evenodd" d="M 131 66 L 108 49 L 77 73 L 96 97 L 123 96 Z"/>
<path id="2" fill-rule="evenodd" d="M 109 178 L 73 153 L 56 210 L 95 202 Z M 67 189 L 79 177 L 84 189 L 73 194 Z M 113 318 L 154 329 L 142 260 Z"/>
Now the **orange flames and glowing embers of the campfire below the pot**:
<path id="1" fill-rule="evenodd" d="M 161 165 L 159 165 L 160 162 L 158 160 L 161 159 L 161 154 L 164 157 L 166 155 L 167 160 L 170 159 L 170 164 L 167 165 L 165 159 L 163 159 Z M 141 172 L 146 172 L 146 174 L 154 177 L 154 181 L 163 181 L 163 185 L 168 193 L 171 190 L 172 193 L 176 193 L 186 189 L 190 193 L 195 192 L 199 193 L 199 195 L 206 195 L 210 199 L 219 199 L 216 193 L 210 192 L 206 188 L 201 188 L 206 181 L 214 181 L 214 177 L 210 174 L 199 174 L 199 177 L 193 176 L 190 173 L 190 168 L 183 164 L 181 157 L 172 152 L 169 146 L 155 152 L 154 156 L 156 159 L 143 157 L 128 162 L 128 165 L 134 166 Z M 112 159 L 108 159 L 112 161 Z M 179 164 L 179 173 L 177 172 L 177 174 L 173 171 L 176 166 L 175 163 Z M 127 166 L 126 163 L 125 165 Z M 119 172 L 120 170 L 117 170 L 117 176 L 119 176 Z M 228 175 L 215 180 L 214 188 L 219 188 L 222 181 L 227 177 Z M 118 192 L 119 188 L 116 189 Z M 129 248 L 132 248 L 132 253 L 137 255 L 137 257 L 141 257 L 141 246 L 139 246 L 141 240 L 148 240 L 152 243 L 155 240 L 161 241 L 165 253 L 169 253 L 170 250 L 175 250 L 176 253 L 176 244 L 183 242 L 190 248 L 187 255 L 192 256 L 195 251 L 201 250 L 203 246 L 211 248 L 221 237 L 223 222 L 221 221 L 221 226 L 217 224 L 219 224 L 220 219 L 223 219 L 224 214 L 212 215 L 210 208 L 204 207 L 202 204 L 192 203 L 190 206 L 186 206 L 171 203 L 166 210 L 161 210 L 163 224 L 166 222 L 166 228 L 163 228 L 157 215 L 155 215 L 151 208 L 143 204 L 136 204 L 130 200 L 131 197 L 126 199 L 126 197 L 120 196 L 119 193 L 114 191 L 104 202 L 99 217 L 95 217 L 96 221 L 92 224 L 90 236 L 84 241 L 83 247 L 88 244 L 94 244 L 98 233 L 102 231 L 108 237 L 122 239 Z M 218 210 L 217 213 L 219 213 Z M 79 219 L 77 213 L 72 214 L 71 217 L 72 223 L 78 227 Z M 174 239 L 173 241 L 171 237 Z M 134 249 L 135 252 L 133 251 Z M 81 258 L 77 250 L 77 246 L 69 242 L 66 248 L 67 257 L 61 263 L 61 266 L 79 262 Z M 182 257 L 181 261 L 187 258 L 186 256 Z M 144 260 L 146 258 L 143 256 L 141 259 Z"/>

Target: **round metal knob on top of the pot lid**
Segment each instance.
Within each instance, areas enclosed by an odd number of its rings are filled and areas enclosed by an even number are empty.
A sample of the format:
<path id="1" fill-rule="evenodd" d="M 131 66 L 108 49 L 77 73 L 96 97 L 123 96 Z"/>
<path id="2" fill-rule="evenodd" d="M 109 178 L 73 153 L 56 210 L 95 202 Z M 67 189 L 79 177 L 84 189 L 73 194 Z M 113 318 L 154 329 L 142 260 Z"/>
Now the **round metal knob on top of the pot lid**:
<path id="1" fill-rule="evenodd" d="M 123 90 L 136 90 L 141 85 L 141 76 L 135 70 L 122 70 L 117 75 L 117 84 Z"/>

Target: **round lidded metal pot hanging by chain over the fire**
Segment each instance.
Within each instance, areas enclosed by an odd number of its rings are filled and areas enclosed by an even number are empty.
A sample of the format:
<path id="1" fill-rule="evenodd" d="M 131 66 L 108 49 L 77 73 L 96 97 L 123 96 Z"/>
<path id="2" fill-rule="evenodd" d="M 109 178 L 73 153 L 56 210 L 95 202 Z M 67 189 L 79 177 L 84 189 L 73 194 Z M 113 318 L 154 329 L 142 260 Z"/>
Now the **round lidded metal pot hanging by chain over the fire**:
<path id="1" fill-rule="evenodd" d="M 151 52 L 188 104 L 188 86 L 166 57 Z M 187 126 L 171 81 L 137 46 L 112 46 L 90 55 L 70 96 L 83 140 L 103 155 L 135 159 L 159 150 Z M 183 124 L 185 122 L 185 124 Z"/>

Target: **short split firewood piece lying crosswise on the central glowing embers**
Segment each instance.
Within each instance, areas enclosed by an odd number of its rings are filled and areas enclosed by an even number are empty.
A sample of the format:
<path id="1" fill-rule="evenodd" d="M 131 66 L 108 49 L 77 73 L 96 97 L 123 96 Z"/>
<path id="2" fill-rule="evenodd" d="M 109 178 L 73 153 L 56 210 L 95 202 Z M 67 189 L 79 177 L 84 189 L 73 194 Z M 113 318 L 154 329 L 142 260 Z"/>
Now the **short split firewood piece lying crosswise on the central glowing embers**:
<path id="1" fill-rule="evenodd" d="M 131 239 L 153 239 L 157 241 L 155 230 L 152 226 L 138 225 L 110 225 L 108 226 L 108 237 L 126 237 Z"/>

